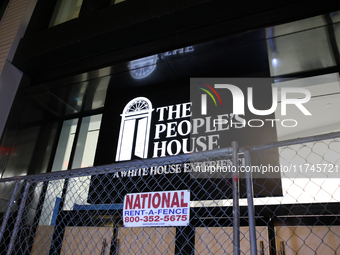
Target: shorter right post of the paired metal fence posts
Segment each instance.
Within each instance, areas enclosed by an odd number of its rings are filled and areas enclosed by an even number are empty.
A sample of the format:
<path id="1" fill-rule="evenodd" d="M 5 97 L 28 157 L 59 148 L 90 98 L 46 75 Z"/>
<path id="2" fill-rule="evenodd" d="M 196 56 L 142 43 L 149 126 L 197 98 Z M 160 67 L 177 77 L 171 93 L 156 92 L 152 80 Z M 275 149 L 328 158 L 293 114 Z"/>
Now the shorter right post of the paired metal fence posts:
<path id="1" fill-rule="evenodd" d="M 248 202 L 248 219 L 249 219 L 249 236 L 250 236 L 250 253 L 251 255 L 257 254 L 256 247 L 256 230 L 255 230 L 255 210 L 254 210 L 254 199 L 253 199 L 253 182 L 251 174 L 251 159 L 250 152 L 244 151 L 245 166 L 249 168 L 246 171 L 246 187 L 247 187 L 247 202 Z"/>

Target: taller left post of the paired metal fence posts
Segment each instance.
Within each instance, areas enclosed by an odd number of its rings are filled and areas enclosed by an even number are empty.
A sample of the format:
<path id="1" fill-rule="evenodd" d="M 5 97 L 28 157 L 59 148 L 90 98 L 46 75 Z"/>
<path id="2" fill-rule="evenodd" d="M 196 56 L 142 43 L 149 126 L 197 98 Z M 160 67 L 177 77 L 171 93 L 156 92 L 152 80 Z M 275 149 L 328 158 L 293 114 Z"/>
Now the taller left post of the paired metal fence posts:
<path id="1" fill-rule="evenodd" d="M 239 191 L 239 176 L 238 176 L 238 143 L 232 142 L 233 147 L 233 166 L 235 174 L 233 176 L 233 250 L 234 255 L 239 255 L 240 250 L 240 191 Z"/>

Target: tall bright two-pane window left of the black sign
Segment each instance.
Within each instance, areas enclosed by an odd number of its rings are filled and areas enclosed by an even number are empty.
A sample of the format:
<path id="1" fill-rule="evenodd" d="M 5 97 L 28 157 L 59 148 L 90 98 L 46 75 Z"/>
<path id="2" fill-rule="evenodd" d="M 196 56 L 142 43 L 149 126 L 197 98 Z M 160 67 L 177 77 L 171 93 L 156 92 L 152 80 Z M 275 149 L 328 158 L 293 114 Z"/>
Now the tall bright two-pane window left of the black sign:
<path id="1" fill-rule="evenodd" d="M 98 114 L 64 121 L 52 171 L 67 170 L 71 165 L 72 169 L 93 165 L 101 119 L 102 114 Z M 75 140 L 78 125 L 80 125 L 79 134 L 77 134 L 78 139 Z M 74 146 L 75 154 L 70 164 Z M 72 210 L 75 204 L 87 204 L 90 179 L 91 176 L 69 179 L 64 210 Z M 63 186 L 62 179 L 49 182 L 39 225 L 55 225 Z"/>

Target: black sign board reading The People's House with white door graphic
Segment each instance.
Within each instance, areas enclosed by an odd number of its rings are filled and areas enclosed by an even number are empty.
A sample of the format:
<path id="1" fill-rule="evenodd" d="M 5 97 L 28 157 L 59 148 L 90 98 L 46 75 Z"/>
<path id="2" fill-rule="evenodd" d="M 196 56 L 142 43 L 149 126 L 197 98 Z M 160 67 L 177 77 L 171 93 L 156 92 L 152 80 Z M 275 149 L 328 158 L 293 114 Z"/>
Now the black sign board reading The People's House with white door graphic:
<path id="1" fill-rule="evenodd" d="M 247 95 L 247 87 L 253 87 L 253 106 L 266 110 L 272 105 L 272 80 L 257 79 L 194 79 L 188 86 L 187 80 L 164 85 L 150 85 L 129 90 L 128 93 L 117 93 L 112 90 L 112 100 L 105 106 L 100 150 L 96 160 L 101 164 L 112 161 L 122 162 L 146 158 L 162 158 L 180 154 L 204 152 L 231 146 L 238 141 L 240 147 L 258 145 L 277 141 L 276 125 L 279 122 L 266 121 L 275 119 L 274 114 L 257 116 L 244 107 L 245 114 L 233 113 L 233 95 L 229 89 L 214 88 L 220 100 L 212 90 L 202 84 L 234 84 L 243 95 Z M 201 113 L 201 95 L 204 88 L 215 98 L 207 96 L 207 113 Z M 119 91 L 120 92 L 120 91 Z M 125 92 L 125 91 L 122 91 Z M 278 90 L 278 98 L 281 98 Z M 301 98 L 301 97 L 300 97 Z M 270 102 L 269 102 L 270 101 Z M 278 109 L 282 106 L 278 104 Z M 287 111 L 296 105 L 288 104 Z M 308 109 L 308 105 L 306 107 Z M 301 113 L 301 111 L 300 111 Z M 263 126 L 254 120 L 263 121 Z M 250 122 L 249 122 L 250 121 Z M 250 123 L 250 125 L 244 125 Z M 261 124 L 261 123 L 260 123 Z M 262 125 L 262 124 L 261 124 Z M 259 125 L 260 126 L 260 125 Z M 266 157 L 252 152 L 253 162 L 259 165 L 278 166 L 279 153 L 273 149 Z M 102 160 L 104 159 L 104 160 Z M 265 159 L 265 161 L 261 161 Z M 111 160 L 111 162 L 110 162 Z M 191 190 L 191 200 L 211 200 L 230 198 L 230 178 L 233 175 L 230 155 L 216 155 L 209 158 L 193 159 L 186 162 L 171 162 L 167 159 L 159 164 L 142 164 L 136 161 L 131 168 L 120 169 L 108 175 L 91 177 L 88 202 L 93 204 L 122 203 L 123 196 L 129 193 L 142 193 Z M 242 163 L 240 163 L 242 165 Z M 230 170 L 229 170 L 230 169 Z M 255 173 L 254 173 L 255 175 Z M 280 173 L 270 174 L 270 179 L 260 179 L 262 172 L 256 171 L 258 183 L 265 182 L 267 189 L 261 185 L 254 186 L 256 196 L 281 195 Z M 268 175 L 266 175 L 268 176 Z M 209 181 L 207 181 L 209 178 Z M 241 194 L 243 193 L 241 185 Z M 103 190 L 109 192 L 103 192 Z M 117 196 L 115 194 L 120 194 Z M 112 195 L 111 195 L 112 194 Z"/>

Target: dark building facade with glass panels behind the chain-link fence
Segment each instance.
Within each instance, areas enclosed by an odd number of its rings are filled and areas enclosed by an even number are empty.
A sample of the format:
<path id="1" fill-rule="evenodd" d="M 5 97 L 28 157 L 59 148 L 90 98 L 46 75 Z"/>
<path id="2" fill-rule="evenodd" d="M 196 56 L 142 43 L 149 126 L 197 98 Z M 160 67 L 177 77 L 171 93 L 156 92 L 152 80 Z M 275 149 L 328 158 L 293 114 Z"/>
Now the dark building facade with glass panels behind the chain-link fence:
<path id="1" fill-rule="evenodd" d="M 128 166 L 140 160 L 223 149 L 232 141 L 238 141 L 240 147 L 257 146 L 340 131 L 340 4 L 336 2 L 11 0 L 3 5 L 7 6 L 0 5 L 5 10 L 0 23 L 0 169 L 4 180 L 124 162 Z M 236 106 L 230 93 L 224 93 L 222 87 L 211 90 L 205 85 L 227 82 L 240 84 L 238 87 L 248 100 L 244 101 L 248 108 L 243 114 L 247 117 L 232 113 Z M 253 88 L 252 97 L 249 87 Z M 306 90 L 308 95 L 301 95 Z M 251 104 L 249 98 L 253 100 Z M 201 108 L 203 99 L 207 100 L 204 102 L 210 110 L 208 115 Z M 223 122 L 217 126 L 209 117 L 212 107 L 219 109 L 214 112 L 216 116 L 223 115 L 218 117 Z M 258 114 L 267 109 L 273 110 Z M 245 124 L 233 126 L 233 121 Z M 324 144 L 331 148 L 334 143 L 325 140 Z M 322 151 L 321 147 L 315 150 Z M 292 148 L 298 151 L 297 147 Z M 338 145 L 332 147 L 332 151 L 338 149 Z M 274 150 L 275 155 L 264 157 L 263 162 L 280 165 L 282 158 L 290 157 L 285 153 Z M 324 151 L 319 154 L 323 159 L 329 155 Z M 261 154 L 252 154 L 252 160 L 262 165 L 259 158 Z M 202 221 L 196 228 L 181 230 L 189 241 L 182 240 L 182 232 L 176 226 L 159 228 L 159 235 L 154 228 L 134 230 L 131 234 L 118 220 L 100 227 L 86 225 L 85 230 L 66 228 L 61 231 L 61 241 L 56 237 L 59 232 L 55 226 L 60 224 L 62 210 L 72 213 L 87 208 L 87 214 L 93 211 L 95 218 L 99 209 L 93 206 L 122 204 L 126 193 L 189 189 L 195 198 L 192 207 L 203 207 L 199 201 L 208 200 L 229 206 L 230 176 L 210 183 L 188 181 L 184 170 L 171 170 L 170 163 L 169 169 L 152 167 L 155 166 L 150 166 L 148 174 L 143 174 L 142 167 L 135 167 L 136 170 L 110 175 L 81 176 L 70 179 L 68 186 L 60 180 L 49 182 L 35 195 L 40 201 L 39 209 L 34 203 L 27 205 L 31 218 L 25 224 L 30 226 L 32 238 L 22 249 L 33 254 L 67 253 L 71 249 L 67 251 L 66 247 L 75 247 L 78 242 L 72 236 L 93 232 L 90 236 L 100 233 L 101 238 L 93 246 L 98 242 L 99 246 L 111 246 L 104 253 L 98 248 L 98 254 L 109 254 L 109 250 L 110 254 L 138 254 L 148 240 L 146 236 L 154 244 L 144 247 L 142 254 L 231 252 L 227 241 L 218 244 L 219 238 L 231 234 L 228 221 L 215 225 Z M 171 177 L 162 177 L 169 173 Z M 292 206 L 295 215 L 294 204 L 314 203 L 326 208 L 330 202 L 312 191 L 309 194 L 314 200 L 289 196 L 288 190 L 298 192 L 290 180 L 275 174 L 271 178 L 254 183 L 259 208 L 265 209 L 267 204 Z M 340 198 L 330 188 L 337 184 L 328 181 L 313 183 L 324 186 L 334 199 L 331 202 L 337 205 Z M 212 186 L 218 187 L 218 191 Z M 4 208 L 8 204 L 6 190 L 13 189 L 13 185 L 1 188 Z M 241 193 L 244 189 L 241 187 Z M 337 209 L 332 210 L 331 214 L 336 215 Z M 276 254 L 280 249 L 283 252 L 282 247 L 286 247 L 287 254 L 307 254 L 310 250 L 327 253 L 327 249 L 337 254 L 338 221 L 330 224 L 314 215 L 321 222 L 319 225 L 299 228 L 293 224 L 294 230 L 287 223 L 289 219 L 280 220 L 279 225 L 271 220 L 275 213 L 266 213 L 261 214 L 266 222 L 257 226 L 262 254 Z M 217 238 L 219 228 L 224 232 Z M 332 233 L 328 239 L 296 245 L 296 236 L 306 236 L 307 240 L 308 231 L 322 233 L 323 228 Z M 247 231 L 245 225 L 241 227 L 242 233 Z M 132 247 L 134 238 L 145 240 Z M 95 238 L 86 242 L 91 240 Z M 39 246 L 39 242 L 45 245 Z M 2 245 L 8 247 L 9 243 L 4 240 Z M 157 243 L 163 247 L 158 253 Z M 322 243 L 327 243 L 328 248 L 321 247 Z M 242 252 L 249 252 L 247 244 L 242 245 Z"/>

